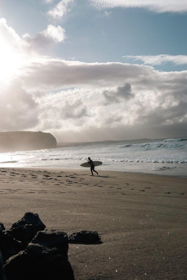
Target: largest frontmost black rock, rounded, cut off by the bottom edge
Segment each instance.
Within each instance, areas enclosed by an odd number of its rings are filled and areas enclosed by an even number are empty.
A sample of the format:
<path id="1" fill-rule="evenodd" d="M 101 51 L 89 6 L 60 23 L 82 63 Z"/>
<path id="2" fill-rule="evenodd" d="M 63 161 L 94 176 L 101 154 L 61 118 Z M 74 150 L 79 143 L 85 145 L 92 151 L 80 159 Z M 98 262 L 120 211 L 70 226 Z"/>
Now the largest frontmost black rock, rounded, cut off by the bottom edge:
<path id="1" fill-rule="evenodd" d="M 74 280 L 67 258 L 58 250 L 30 244 L 4 265 L 7 280 Z"/>

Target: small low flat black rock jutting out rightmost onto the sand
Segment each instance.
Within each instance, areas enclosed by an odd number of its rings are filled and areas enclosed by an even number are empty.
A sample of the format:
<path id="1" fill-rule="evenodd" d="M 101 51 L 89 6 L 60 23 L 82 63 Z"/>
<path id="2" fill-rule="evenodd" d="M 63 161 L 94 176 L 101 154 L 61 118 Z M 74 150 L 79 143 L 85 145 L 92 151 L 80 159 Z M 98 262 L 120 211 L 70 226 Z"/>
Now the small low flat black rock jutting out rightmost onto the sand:
<path id="1" fill-rule="evenodd" d="M 102 243 L 97 231 L 79 231 L 68 236 L 69 243 Z"/>

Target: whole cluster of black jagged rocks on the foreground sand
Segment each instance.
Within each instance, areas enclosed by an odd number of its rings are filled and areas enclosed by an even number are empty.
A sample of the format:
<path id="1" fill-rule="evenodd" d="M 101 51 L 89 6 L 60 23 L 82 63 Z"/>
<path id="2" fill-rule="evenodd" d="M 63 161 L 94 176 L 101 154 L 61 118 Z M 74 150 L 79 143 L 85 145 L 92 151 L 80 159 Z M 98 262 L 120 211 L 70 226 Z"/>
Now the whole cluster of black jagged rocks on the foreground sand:
<path id="1" fill-rule="evenodd" d="M 68 261 L 69 243 L 102 243 L 97 231 L 79 231 L 68 236 L 45 229 L 38 214 L 32 212 L 26 212 L 9 230 L 2 223 L 0 226 L 1 280 L 74 280 Z"/>

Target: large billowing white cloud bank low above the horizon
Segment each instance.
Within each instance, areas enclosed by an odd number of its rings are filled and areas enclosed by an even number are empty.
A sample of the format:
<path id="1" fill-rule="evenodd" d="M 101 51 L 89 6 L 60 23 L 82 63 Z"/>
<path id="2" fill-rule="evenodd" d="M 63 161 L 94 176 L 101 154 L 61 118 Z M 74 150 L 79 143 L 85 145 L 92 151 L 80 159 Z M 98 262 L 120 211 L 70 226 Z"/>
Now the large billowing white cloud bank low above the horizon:
<path id="1" fill-rule="evenodd" d="M 159 138 L 165 137 L 166 131 L 168 137 L 177 137 L 179 132 L 185 136 L 186 85 L 180 88 L 176 82 L 173 89 L 172 86 L 165 89 L 165 85 L 156 83 L 154 86 L 133 85 L 131 90 L 130 85 L 124 87 L 129 95 L 133 91 L 133 98 L 126 99 L 119 94 L 120 102 L 110 99 L 105 104 L 103 97 L 106 91 L 118 93 L 118 86 L 111 89 L 75 88 L 38 97 L 40 126 L 36 130 L 52 131 L 59 141 L 127 139 L 145 135 Z"/>

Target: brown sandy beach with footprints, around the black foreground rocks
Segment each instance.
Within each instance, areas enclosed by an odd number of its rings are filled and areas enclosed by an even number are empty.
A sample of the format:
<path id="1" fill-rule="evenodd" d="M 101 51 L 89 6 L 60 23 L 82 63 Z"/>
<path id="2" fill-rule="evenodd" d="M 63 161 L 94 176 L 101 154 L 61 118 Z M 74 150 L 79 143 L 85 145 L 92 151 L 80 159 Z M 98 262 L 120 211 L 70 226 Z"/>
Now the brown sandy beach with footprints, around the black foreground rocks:
<path id="1" fill-rule="evenodd" d="M 186 279 L 187 179 L 88 169 L 0 169 L 0 222 L 36 212 L 47 228 L 98 231 L 70 244 L 75 279 Z"/>

